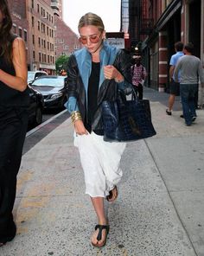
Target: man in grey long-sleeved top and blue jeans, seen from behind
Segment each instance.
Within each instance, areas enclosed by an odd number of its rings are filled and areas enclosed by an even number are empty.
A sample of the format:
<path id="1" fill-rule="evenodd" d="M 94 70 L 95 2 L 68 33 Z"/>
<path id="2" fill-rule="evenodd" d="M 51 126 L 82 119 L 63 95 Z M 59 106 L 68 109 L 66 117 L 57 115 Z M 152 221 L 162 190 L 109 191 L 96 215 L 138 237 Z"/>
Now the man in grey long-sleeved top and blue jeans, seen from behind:
<path id="1" fill-rule="evenodd" d="M 204 86 L 204 74 L 201 60 L 193 55 L 194 45 L 188 43 L 184 47 L 182 56 L 175 67 L 175 81 L 180 77 L 180 95 L 182 99 L 182 111 L 186 125 L 191 125 L 196 119 L 194 96 L 198 90 L 199 77 L 202 87 Z"/>

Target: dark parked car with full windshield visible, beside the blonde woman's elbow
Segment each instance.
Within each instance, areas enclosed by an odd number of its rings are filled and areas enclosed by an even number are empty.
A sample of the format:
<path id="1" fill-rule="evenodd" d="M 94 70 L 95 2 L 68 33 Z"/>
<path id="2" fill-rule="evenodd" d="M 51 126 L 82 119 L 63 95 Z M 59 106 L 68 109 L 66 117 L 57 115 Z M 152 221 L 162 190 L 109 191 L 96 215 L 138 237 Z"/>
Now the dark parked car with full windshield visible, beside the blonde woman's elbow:
<path id="1" fill-rule="evenodd" d="M 41 76 L 30 86 L 41 92 L 45 108 L 64 108 L 67 101 L 67 77 L 60 75 Z"/>

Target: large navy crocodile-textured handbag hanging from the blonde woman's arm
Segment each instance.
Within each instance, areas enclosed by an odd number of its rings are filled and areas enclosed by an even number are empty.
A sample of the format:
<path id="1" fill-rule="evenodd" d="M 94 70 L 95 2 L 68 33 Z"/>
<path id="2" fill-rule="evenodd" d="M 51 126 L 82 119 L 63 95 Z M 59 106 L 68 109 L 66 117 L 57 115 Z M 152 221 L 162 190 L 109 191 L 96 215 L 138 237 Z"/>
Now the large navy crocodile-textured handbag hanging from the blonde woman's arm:
<path id="1" fill-rule="evenodd" d="M 105 141 L 131 141 L 156 135 L 151 122 L 150 101 L 137 99 L 132 90 L 131 100 L 118 92 L 115 101 L 102 102 Z"/>

